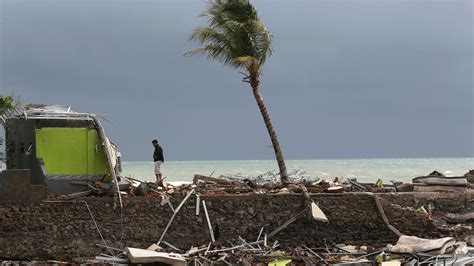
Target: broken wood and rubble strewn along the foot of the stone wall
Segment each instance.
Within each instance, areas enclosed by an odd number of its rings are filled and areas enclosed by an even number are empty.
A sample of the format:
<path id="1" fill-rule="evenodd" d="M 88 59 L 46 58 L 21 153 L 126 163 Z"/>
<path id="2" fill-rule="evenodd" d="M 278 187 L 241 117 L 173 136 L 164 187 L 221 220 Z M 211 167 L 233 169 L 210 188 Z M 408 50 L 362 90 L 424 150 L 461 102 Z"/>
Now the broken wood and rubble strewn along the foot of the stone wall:
<path id="1" fill-rule="evenodd" d="M 263 229 L 263 228 L 262 228 Z M 147 249 L 113 249 L 116 255 L 101 254 L 100 263 L 166 263 L 171 265 L 466 265 L 474 263 L 474 248 L 453 238 L 423 239 L 402 235 L 396 245 L 384 248 L 325 243 L 324 247 L 301 245 L 280 249 L 278 240 L 262 237 L 255 241 L 239 237 L 232 246 L 211 242 L 187 251 L 167 242 Z"/>

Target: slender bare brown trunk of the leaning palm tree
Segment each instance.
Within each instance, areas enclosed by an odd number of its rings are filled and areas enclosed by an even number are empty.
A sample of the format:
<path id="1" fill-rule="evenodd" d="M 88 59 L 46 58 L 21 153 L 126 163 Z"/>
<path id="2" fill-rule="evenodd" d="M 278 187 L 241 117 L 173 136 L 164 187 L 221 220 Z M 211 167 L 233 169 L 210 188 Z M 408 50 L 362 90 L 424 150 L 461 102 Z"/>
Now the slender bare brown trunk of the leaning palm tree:
<path id="1" fill-rule="evenodd" d="M 278 137 L 275 133 L 275 130 L 273 129 L 272 121 L 270 120 L 270 115 L 268 114 L 267 107 L 265 107 L 265 103 L 263 102 L 263 97 L 260 94 L 258 85 L 256 85 L 255 83 L 252 84 L 252 91 L 253 95 L 255 96 L 255 100 L 257 101 L 258 108 L 260 109 L 260 113 L 262 114 L 263 121 L 265 122 L 265 126 L 267 127 L 270 139 L 272 140 L 273 150 L 275 151 L 275 157 L 278 162 L 278 168 L 280 169 L 281 183 L 288 184 L 288 173 L 286 172 L 285 159 L 283 158 L 283 153 L 281 152 L 280 142 L 278 141 Z"/>

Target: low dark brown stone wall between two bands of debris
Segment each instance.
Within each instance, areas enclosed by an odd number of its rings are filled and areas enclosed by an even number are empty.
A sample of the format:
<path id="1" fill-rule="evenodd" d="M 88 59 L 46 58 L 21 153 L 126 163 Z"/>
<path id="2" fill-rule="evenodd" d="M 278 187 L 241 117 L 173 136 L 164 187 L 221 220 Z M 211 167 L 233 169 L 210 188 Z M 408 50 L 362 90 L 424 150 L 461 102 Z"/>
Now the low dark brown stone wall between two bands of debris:
<path id="1" fill-rule="evenodd" d="M 314 221 L 309 213 L 303 212 L 274 237 L 283 247 L 302 244 L 324 247 L 325 241 L 381 246 L 398 239 L 383 221 L 373 194 L 312 194 L 311 197 L 330 222 Z M 254 240 L 260 228 L 271 232 L 291 215 L 304 210 L 301 195 L 201 196 L 201 199 L 206 201 L 213 225 L 219 227 L 217 241 L 221 245 L 237 243 L 239 236 Z M 174 207 L 181 200 L 182 197 L 171 198 Z M 109 245 L 146 248 L 158 241 L 172 215 L 169 206 L 160 203 L 160 197 L 126 198 L 122 212 L 114 208 L 114 199 L 108 197 L 74 202 L 0 203 L 0 257 L 71 260 L 105 252 L 96 245 L 102 240 L 88 208 Z M 388 213 L 390 221 L 393 215 Z M 409 226 L 409 223 L 401 225 Z M 164 240 L 184 250 L 210 242 L 202 207 L 196 216 L 194 195 L 176 215 Z"/>

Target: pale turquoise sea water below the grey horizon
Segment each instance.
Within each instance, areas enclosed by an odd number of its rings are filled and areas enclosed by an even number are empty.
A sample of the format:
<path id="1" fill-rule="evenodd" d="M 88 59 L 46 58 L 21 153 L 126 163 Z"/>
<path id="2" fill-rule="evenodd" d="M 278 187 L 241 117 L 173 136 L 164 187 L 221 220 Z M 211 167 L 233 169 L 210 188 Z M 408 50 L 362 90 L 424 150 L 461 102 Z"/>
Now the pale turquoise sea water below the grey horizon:
<path id="1" fill-rule="evenodd" d="M 287 160 L 288 170 L 303 169 L 306 175 L 324 178 L 356 177 L 360 182 L 375 182 L 381 178 L 411 181 L 436 170 L 446 176 L 464 175 L 474 169 L 474 158 L 434 159 L 353 159 L 353 160 Z M 257 176 L 277 170 L 276 161 L 170 161 L 164 164 L 168 181 L 191 181 L 194 174 L 214 177 L 223 174 Z M 141 180 L 154 180 L 152 162 L 124 162 L 123 173 Z"/>

